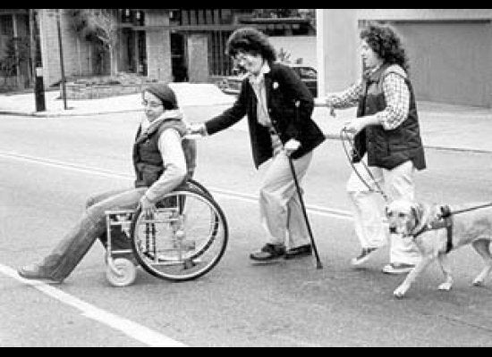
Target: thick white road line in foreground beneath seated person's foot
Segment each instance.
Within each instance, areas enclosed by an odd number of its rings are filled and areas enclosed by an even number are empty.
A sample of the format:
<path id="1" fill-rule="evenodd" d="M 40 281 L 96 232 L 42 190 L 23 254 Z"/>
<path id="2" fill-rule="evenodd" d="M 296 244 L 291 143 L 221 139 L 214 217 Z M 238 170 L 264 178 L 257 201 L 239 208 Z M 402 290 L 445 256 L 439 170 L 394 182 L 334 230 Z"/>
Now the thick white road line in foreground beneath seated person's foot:
<path id="1" fill-rule="evenodd" d="M 17 274 L 17 271 L 3 264 L 0 264 L 0 272 L 10 278 L 19 280 L 23 284 L 29 284 L 30 286 L 35 287 L 40 292 L 55 298 L 61 303 L 70 305 L 75 309 L 80 310 L 83 316 L 92 320 L 97 320 L 111 328 L 115 328 L 116 330 L 123 332 L 123 334 L 130 336 L 142 344 L 152 347 L 186 347 L 186 345 L 179 341 L 162 335 L 153 329 L 146 328 L 136 322 L 117 316 L 114 313 L 99 309 L 90 303 L 85 303 L 81 299 L 66 294 L 54 286 L 49 286 L 41 281 L 32 281 L 21 278 Z"/>

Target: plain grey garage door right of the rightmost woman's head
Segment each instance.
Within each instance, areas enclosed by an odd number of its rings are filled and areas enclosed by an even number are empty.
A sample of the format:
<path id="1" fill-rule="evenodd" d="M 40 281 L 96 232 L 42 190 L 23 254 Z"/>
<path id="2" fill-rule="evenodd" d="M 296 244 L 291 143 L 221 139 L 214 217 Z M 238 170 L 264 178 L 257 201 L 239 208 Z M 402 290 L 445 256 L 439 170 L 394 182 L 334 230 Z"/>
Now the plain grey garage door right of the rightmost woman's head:
<path id="1" fill-rule="evenodd" d="M 418 100 L 490 106 L 489 21 L 399 21 Z"/>

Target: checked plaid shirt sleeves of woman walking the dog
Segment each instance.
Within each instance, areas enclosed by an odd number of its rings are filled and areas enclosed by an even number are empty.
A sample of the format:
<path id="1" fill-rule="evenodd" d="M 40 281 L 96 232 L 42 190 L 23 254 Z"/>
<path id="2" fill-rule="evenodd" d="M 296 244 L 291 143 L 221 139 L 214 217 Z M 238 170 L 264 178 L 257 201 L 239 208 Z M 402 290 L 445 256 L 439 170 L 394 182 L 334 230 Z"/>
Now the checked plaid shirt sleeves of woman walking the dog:
<path id="1" fill-rule="evenodd" d="M 410 107 L 410 91 L 402 76 L 389 73 L 383 80 L 383 92 L 386 108 L 376 113 L 377 120 L 384 129 L 396 129 L 408 116 Z M 335 109 L 346 109 L 359 104 L 362 95 L 362 80 L 338 94 L 327 95 L 327 106 Z"/>

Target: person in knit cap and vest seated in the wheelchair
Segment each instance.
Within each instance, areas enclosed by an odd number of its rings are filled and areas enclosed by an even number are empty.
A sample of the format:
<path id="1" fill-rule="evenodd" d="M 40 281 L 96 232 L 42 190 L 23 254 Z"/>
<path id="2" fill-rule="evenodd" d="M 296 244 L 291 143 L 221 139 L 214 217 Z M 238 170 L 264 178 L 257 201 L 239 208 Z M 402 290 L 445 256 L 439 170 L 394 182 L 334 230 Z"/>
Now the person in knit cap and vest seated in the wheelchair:
<path id="1" fill-rule="evenodd" d="M 132 159 L 136 173 L 134 187 L 94 195 L 86 203 L 81 219 L 38 263 L 18 270 L 22 278 L 61 283 L 81 262 L 97 238 L 106 247 L 106 211 L 135 210 L 151 215 L 161 197 L 191 179 L 195 169 L 196 144 L 184 138 L 186 125 L 174 91 L 165 84 L 153 84 L 142 91 L 142 117 Z M 112 246 L 131 249 L 128 237 L 112 232 Z"/>

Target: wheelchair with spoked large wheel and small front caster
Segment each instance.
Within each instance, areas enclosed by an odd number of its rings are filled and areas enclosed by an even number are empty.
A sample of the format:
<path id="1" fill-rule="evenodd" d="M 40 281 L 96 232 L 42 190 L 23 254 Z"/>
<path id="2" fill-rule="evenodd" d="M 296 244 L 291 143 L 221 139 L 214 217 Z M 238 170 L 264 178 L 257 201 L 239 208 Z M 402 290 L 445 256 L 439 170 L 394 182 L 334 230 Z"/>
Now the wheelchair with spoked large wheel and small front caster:
<path id="1" fill-rule="evenodd" d="M 152 217 L 137 210 L 106 212 L 106 278 L 113 286 L 129 286 L 137 266 L 175 282 L 199 278 L 225 253 L 225 214 L 213 196 L 194 179 L 165 195 Z M 123 231 L 131 249 L 114 249 L 112 232 Z"/>

